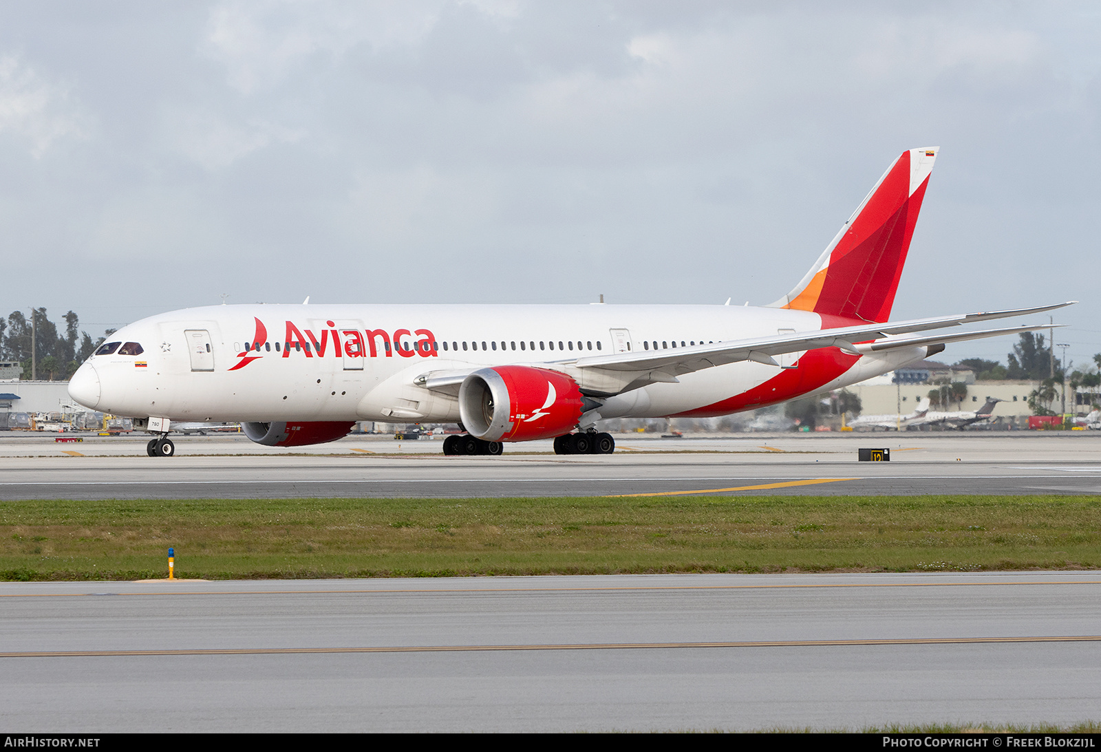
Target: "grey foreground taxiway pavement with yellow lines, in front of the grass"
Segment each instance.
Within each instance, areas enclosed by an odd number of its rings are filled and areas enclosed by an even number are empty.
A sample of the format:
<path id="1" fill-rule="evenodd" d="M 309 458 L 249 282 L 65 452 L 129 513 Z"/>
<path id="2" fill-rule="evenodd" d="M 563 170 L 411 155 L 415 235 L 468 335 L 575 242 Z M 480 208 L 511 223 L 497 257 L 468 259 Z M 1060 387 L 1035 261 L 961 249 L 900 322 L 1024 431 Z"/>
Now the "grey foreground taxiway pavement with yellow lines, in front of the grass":
<path id="1" fill-rule="evenodd" d="M 0 723 L 576 731 L 1073 723 L 1101 573 L 0 584 Z"/>

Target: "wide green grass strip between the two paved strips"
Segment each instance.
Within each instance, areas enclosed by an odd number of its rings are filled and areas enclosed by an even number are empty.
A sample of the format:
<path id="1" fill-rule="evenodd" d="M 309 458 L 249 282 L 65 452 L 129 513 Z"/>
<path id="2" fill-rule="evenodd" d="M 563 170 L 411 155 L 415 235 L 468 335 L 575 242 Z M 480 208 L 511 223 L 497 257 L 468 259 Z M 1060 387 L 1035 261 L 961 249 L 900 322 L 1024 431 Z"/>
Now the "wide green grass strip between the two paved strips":
<path id="1" fill-rule="evenodd" d="M 0 502 L 0 579 L 1101 568 L 1098 497 Z"/>

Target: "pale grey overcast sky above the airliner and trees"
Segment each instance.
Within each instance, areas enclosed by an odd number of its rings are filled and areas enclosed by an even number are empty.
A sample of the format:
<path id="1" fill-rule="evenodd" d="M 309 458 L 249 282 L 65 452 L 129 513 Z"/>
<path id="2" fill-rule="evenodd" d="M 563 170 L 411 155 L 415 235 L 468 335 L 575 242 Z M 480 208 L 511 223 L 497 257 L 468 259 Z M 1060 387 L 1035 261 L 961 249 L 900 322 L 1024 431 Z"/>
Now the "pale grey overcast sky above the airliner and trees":
<path id="1" fill-rule="evenodd" d="M 1089 2 L 0 1 L 0 312 L 765 304 L 939 145 L 893 318 L 1077 298 L 1083 363 L 1099 40 Z"/>

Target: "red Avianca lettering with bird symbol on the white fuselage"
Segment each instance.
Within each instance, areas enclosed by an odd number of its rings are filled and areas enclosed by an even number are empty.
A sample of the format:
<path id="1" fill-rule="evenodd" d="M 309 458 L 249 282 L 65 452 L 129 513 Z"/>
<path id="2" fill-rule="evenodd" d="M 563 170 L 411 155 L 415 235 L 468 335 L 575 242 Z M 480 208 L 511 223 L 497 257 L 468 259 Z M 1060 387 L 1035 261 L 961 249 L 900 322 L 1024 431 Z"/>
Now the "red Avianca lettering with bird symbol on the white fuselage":
<path id="1" fill-rule="evenodd" d="M 230 371 L 244 368 L 253 360 L 271 352 L 268 341 L 268 327 L 259 318 L 255 334 L 251 341 L 244 344 L 244 350 L 238 353 L 239 362 Z M 428 329 L 396 329 L 393 336 L 385 329 L 344 329 L 334 321 L 325 323 L 330 328 L 321 329 L 319 336 L 306 327 L 298 328 L 293 321 L 286 321 L 286 335 L 282 342 L 275 342 L 276 357 L 290 358 L 292 352 L 302 353 L 306 358 L 393 358 L 396 352 L 401 358 L 438 358 L 439 346 L 436 336 Z M 416 339 L 419 337 L 419 339 Z"/>

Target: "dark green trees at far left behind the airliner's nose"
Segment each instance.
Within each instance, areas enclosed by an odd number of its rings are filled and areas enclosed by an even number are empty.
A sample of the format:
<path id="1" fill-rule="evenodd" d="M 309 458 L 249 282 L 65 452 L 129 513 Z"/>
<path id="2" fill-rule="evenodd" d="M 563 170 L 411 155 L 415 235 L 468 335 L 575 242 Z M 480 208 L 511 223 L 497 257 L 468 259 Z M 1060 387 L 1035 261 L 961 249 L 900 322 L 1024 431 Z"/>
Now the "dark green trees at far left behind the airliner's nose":
<path id="1" fill-rule="evenodd" d="M 50 320 L 45 308 L 31 312 L 25 316 L 22 310 L 13 310 L 7 319 L 0 318 L 0 360 L 19 362 L 23 367 L 21 379 L 31 378 L 32 341 L 37 378 L 65 381 L 115 334 L 115 329 L 108 329 L 102 337 L 92 339 L 80 330 L 80 319 L 72 310 L 63 317 L 62 326 Z"/>

